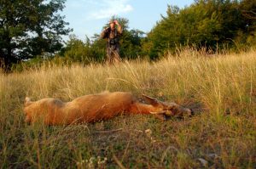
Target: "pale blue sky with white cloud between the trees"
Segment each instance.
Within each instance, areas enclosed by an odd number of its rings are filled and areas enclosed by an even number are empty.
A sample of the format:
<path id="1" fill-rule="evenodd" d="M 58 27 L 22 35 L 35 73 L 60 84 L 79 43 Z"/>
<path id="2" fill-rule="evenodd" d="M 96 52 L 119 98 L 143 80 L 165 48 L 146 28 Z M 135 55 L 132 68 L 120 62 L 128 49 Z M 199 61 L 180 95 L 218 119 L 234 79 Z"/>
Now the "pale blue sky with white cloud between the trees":
<path id="1" fill-rule="evenodd" d="M 116 15 L 129 20 L 129 29 L 138 29 L 147 33 L 166 15 L 167 5 L 184 8 L 194 0 L 67 0 L 66 8 L 61 12 L 65 15 L 68 27 L 73 28 L 72 34 L 84 40 L 100 34 L 103 25 L 111 16 Z M 68 37 L 64 37 L 68 39 Z"/>

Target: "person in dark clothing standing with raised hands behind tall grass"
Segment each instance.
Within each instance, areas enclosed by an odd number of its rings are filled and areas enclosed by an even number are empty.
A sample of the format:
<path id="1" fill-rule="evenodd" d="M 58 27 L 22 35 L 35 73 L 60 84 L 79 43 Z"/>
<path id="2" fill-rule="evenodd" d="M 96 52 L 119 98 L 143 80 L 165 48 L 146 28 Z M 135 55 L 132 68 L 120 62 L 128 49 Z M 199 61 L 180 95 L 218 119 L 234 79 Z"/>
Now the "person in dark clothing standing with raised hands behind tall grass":
<path id="1" fill-rule="evenodd" d="M 119 56 L 119 37 L 123 30 L 117 20 L 109 22 L 109 27 L 102 31 L 101 37 L 107 39 L 107 62 L 108 64 L 118 63 L 121 58 Z"/>

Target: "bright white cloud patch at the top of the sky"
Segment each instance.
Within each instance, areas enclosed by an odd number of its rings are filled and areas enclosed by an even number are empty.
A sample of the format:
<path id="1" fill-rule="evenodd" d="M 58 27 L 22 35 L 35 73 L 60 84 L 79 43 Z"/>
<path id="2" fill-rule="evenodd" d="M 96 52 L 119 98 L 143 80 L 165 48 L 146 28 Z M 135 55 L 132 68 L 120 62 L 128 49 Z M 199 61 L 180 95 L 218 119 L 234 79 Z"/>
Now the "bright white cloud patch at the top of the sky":
<path id="1" fill-rule="evenodd" d="M 91 12 L 88 20 L 101 20 L 113 15 L 125 14 L 133 10 L 129 0 L 102 0 L 98 11 Z"/>

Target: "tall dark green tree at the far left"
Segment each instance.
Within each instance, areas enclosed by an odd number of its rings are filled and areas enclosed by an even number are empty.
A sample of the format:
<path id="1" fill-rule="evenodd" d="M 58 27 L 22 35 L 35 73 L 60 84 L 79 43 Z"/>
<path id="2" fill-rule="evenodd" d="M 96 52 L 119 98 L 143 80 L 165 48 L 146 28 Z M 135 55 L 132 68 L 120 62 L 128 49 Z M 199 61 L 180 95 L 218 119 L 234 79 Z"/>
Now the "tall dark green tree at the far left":
<path id="1" fill-rule="evenodd" d="M 65 0 L 0 0 L 0 63 L 5 70 L 21 59 L 60 50 L 71 30 L 58 14 Z"/>

